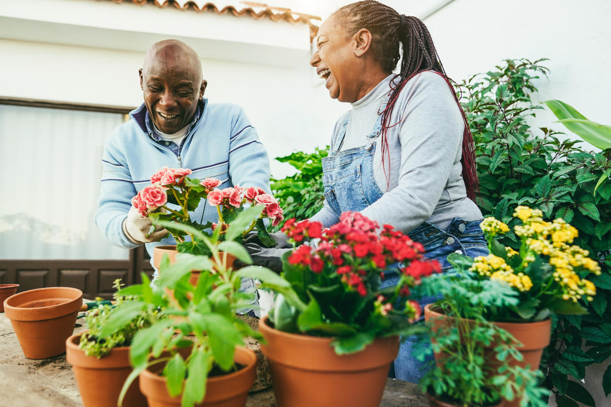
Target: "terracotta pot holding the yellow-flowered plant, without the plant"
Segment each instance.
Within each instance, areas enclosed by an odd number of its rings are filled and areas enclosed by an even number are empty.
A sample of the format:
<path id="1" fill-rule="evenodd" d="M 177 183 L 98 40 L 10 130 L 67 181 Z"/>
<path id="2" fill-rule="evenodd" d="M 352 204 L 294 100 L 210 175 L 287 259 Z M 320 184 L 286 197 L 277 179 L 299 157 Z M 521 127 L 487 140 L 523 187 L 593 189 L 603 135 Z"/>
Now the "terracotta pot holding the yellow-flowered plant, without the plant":
<path id="1" fill-rule="evenodd" d="M 425 306 L 424 309 L 425 320 L 436 319 L 438 323 L 443 323 L 443 320 L 450 320 L 445 315 L 431 309 L 431 304 Z M 516 340 L 522 343 L 521 347 L 518 347 L 518 351 L 522 354 L 522 361 L 516 361 L 511 358 L 508 362 L 511 366 L 526 367 L 530 365 L 531 370 L 539 369 L 541 364 L 541 356 L 543 355 L 544 348 L 549 345 L 551 337 L 551 319 L 538 322 L 492 322 L 499 328 L 508 331 L 513 335 Z M 438 355 L 435 355 L 437 359 Z M 495 361 L 491 361 L 491 364 L 495 364 Z M 518 407 L 519 397 L 516 397 L 513 402 L 505 401 L 507 407 Z"/>

